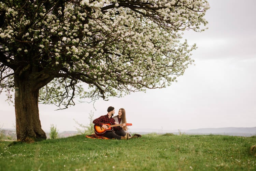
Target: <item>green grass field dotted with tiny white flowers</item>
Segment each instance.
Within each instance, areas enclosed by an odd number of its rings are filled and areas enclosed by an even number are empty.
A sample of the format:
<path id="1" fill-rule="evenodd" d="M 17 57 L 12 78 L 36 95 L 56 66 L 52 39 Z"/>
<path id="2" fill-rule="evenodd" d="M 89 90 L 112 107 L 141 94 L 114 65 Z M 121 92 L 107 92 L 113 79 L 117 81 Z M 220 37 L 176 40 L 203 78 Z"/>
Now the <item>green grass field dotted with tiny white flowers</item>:
<path id="1" fill-rule="evenodd" d="M 85 136 L 32 144 L 0 141 L 0 170 L 256 170 L 256 137 L 147 134 L 139 139 Z"/>

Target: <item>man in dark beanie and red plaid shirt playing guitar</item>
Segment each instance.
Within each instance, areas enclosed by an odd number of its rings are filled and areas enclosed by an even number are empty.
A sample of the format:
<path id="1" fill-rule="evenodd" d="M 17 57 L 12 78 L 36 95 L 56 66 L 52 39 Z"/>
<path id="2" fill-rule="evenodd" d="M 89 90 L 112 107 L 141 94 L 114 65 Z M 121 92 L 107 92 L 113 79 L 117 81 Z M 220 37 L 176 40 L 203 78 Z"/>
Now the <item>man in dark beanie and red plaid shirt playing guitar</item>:
<path id="1" fill-rule="evenodd" d="M 106 123 L 108 123 L 108 122 L 111 123 L 112 125 L 118 124 L 117 122 L 115 122 L 115 119 L 112 118 L 112 116 L 114 116 L 114 113 L 115 113 L 115 108 L 112 106 L 109 106 L 107 111 L 108 111 L 108 114 L 102 115 L 99 118 L 94 119 L 94 121 L 93 121 L 93 123 L 96 126 L 100 126 L 100 127 L 104 128 L 105 130 L 107 130 L 109 128 L 106 125 Z M 123 126 L 125 126 L 125 124 L 123 124 Z M 125 133 L 125 131 L 122 129 L 122 127 L 118 126 L 118 127 L 113 127 L 113 131 L 106 131 L 104 134 L 104 137 L 115 138 L 118 140 L 128 140 L 129 134 Z"/>

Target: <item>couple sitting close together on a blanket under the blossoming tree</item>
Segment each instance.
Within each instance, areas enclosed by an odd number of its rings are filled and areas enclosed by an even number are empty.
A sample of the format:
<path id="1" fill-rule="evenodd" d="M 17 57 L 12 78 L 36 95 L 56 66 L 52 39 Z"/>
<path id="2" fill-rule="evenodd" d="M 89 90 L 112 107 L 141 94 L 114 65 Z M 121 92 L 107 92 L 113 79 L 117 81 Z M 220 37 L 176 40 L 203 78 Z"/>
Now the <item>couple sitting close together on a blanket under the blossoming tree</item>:
<path id="1" fill-rule="evenodd" d="M 110 139 L 114 138 L 118 140 L 128 140 L 129 138 L 131 138 L 131 134 L 128 132 L 128 129 L 126 126 L 127 123 L 126 123 L 125 110 L 123 108 L 119 109 L 117 116 L 114 116 L 114 113 L 115 113 L 114 107 L 109 106 L 107 111 L 108 111 L 108 114 L 102 115 L 93 121 L 93 123 L 95 124 L 95 127 L 98 126 L 104 133 L 102 134 L 100 134 L 99 132 L 97 133 L 97 129 L 95 129 L 95 133 L 98 136 L 104 136 Z M 115 126 L 113 127 L 113 129 L 111 128 L 110 130 L 110 127 L 109 127 L 110 124 L 107 124 L 107 123 L 111 123 L 111 125 L 120 125 L 120 126 Z"/>

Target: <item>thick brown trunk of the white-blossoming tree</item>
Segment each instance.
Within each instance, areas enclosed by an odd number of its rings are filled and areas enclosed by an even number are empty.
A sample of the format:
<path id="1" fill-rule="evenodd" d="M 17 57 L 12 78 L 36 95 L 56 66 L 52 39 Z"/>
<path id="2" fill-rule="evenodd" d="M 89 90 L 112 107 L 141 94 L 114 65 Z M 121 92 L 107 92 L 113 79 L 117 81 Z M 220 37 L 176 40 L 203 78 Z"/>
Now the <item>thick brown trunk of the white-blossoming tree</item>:
<path id="1" fill-rule="evenodd" d="M 46 139 L 39 119 L 39 89 L 35 89 L 35 80 L 14 75 L 15 116 L 17 141 L 34 142 Z"/>

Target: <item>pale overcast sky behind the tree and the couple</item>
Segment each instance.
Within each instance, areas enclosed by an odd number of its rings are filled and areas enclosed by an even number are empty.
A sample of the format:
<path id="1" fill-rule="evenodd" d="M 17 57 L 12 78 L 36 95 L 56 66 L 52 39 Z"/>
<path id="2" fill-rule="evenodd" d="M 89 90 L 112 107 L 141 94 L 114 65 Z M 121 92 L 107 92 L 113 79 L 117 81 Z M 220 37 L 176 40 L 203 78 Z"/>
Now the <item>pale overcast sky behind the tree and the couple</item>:
<path id="1" fill-rule="evenodd" d="M 123 98 L 80 103 L 65 110 L 39 104 L 42 129 L 51 124 L 59 132 L 75 131 L 114 106 L 126 110 L 131 132 L 168 132 L 198 128 L 256 127 L 255 0 L 208 0 L 201 33 L 185 32 L 188 44 L 197 44 L 191 65 L 177 82 L 162 89 L 133 92 Z M 0 95 L 0 128 L 15 128 L 13 104 Z M 77 123 L 76 123 L 77 122 Z"/>

